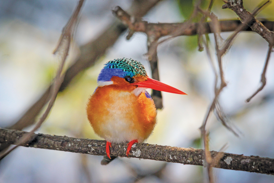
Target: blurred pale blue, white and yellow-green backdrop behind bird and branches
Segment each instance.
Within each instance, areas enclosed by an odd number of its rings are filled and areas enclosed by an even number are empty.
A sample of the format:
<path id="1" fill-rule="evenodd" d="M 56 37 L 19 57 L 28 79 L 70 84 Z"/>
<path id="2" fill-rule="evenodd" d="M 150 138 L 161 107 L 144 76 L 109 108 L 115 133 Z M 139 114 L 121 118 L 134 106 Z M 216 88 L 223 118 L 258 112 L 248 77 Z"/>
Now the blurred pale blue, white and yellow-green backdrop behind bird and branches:
<path id="1" fill-rule="evenodd" d="M 52 55 L 62 28 L 77 6 L 77 0 L 0 0 L 0 127 L 16 123 L 47 89 L 58 66 Z M 259 0 L 244 1 L 252 11 Z M 87 0 L 82 8 L 67 66 L 79 56 L 79 47 L 97 38 L 115 18 L 111 10 L 121 6 L 127 10 L 131 0 Z M 205 1 L 207 6 L 208 1 Z M 219 19 L 237 19 L 231 10 L 214 2 L 212 12 Z M 144 20 L 151 23 L 182 22 L 191 13 L 193 2 L 163 0 L 152 8 Z M 257 18 L 271 20 L 273 3 Z M 221 33 L 227 38 L 231 33 Z M 151 76 L 144 33 L 126 40 L 123 33 L 97 63 L 80 73 L 58 94 L 52 111 L 39 133 L 100 139 L 86 117 L 86 103 L 97 86 L 103 65 L 114 58 L 140 61 Z M 214 57 L 214 39 L 211 53 Z M 257 33 L 240 33 L 223 57 L 227 87 L 220 95 L 231 124 L 241 131 L 236 137 L 210 116 L 210 149 L 244 155 L 274 158 L 274 57 L 267 68 L 267 84 L 248 104 L 245 100 L 257 90 L 267 55 L 268 43 Z M 186 95 L 162 92 L 162 110 L 158 110 L 157 126 L 147 143 L 177 147 L 202 148 L 199 127 L 214 97 L 214 73 L 205 51 L 197 51 L 197 36 L 181 36 L 158 47 L 159 74 L 163 83 L 178 88 Z M 151 91 L 149 91 L 151 92 Z M 32 127 L 24 130 L 30 130 Z M 0 163 L 0 182 L 203 182 L 203 167 L 136 158 L 117 158 L 102 166 L 102 156 L 82 155 L 56 150 L 18 147 Z M 214 169 L 216 182 L 274 182 L 273 176 L 235 170 Z"/>

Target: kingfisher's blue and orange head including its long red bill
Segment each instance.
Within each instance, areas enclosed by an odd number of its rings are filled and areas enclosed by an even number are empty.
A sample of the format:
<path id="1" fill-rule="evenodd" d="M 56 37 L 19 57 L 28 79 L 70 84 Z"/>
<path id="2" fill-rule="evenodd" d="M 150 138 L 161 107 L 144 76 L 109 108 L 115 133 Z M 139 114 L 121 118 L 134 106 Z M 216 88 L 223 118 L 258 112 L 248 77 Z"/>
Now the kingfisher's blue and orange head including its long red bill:
<path id="1" fill-rule="evenodd" d="M 148 88 L 185 94 L 176 88 L 149 78 L 140 62 L 127 58 L 107 62 L 98 76 L 97 83 L 99 87 L 112 84 L 116 89 L 133 91 L 136 96 Z"/>

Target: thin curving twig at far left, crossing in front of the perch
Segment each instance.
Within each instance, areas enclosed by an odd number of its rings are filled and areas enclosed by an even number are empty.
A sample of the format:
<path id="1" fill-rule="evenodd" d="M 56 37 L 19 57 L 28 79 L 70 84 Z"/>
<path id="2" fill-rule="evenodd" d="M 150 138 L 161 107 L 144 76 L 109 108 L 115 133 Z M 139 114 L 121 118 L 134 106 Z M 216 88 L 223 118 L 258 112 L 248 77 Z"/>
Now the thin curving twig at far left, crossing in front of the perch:
<path id="1" fill-rule="evenodd" d="M 8 155 L 10 152 L 12 152 L 12 150 L 16 149 L 19 145 L 25 143 L 31 136 L 31 134 L 33 132 L 35 132 L 37 129 L 39 129 L 42 125 L 42 123 L 45 121 L 45 119 L 47 118 L 54 102 L 55 99 L 57 97 L 57 93 L 59 91 L 59 88 L 63 82 L 64 79 L 64 74 L 62 74 L 63 71 L 63 67 L 68 55 L 68 51 L 69 51 L 69 46 L 72 40 L 72 36 L 75 30 L 75 26 L 78 20 L 78 15 L 80 13 L 81 7 L 83 5 L 84 0 L 80 0 L 78 3 L 78 6 L 76 8 L 76 10 L 74 11 L 74 13 L 72 14 L 72 17 L 70 18 L 69 22 L 67 23 L 66 27 L 63 29 L 61 38 L 59 39 L 59 43 L 57 48 L 54 51 L 54 54 L 58 54 L 60 55 L 61 58 L 61 63 L 59 66 L 59 69 L 57 70 L 57 74 L 53 80 L 53 84 L 52 87 L 50 89 L 50 94 L 49 94 L 49 104 L 47 106 L 46 111 L 44 112 L 44 114 L 42 115 L 42 117 L 39 119 L 39 121 L 37 122 L 37 124 L 35 125 L 35 127 L 26 135 L 24 135 L 15 146 L 13 146 L 10 150 L 7 150 L 6 152 L 4 152 L 1 156 L 0 156 L 0 160 L 2 160 L 6 155 Z"/>

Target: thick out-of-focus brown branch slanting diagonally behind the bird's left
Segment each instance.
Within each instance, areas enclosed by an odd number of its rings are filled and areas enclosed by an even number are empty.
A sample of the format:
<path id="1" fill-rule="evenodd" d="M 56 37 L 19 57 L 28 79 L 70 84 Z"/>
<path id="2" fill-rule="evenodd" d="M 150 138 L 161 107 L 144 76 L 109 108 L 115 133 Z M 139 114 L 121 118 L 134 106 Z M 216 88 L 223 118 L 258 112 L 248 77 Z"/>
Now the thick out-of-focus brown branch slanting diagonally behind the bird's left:
<path id="1" fill-rule="evenodd" d="M 154 7 L 161 0 L 134 0 L 131 6 L 131 12 L 136 17 L 142 17 L 152 7 Z M 69 67 L 65 73 L 64 81 L 59 89 L 63 91 L 71 82 L 71 80 L 82 70 L 87 69 L 95 64 L 95 62 L 105 54 L 107 48 L 112 46 L 117 38 L 126 30 L 126 27 L 119 21 L 113 23 L 106 28 L 106 30 L 99 35 L 95 40 L 90 41 L 86 45 L 80 47 L 81 55 L 74 64 Z M 51 86 L 52 87 L 52 86 Z M 40 113 L 43 106 L 48 102 L 50 88 L 45 90 L 41 98 L 37 100 L 22 117 L 9 129 L 22 130 L 23 128 L 34 124 L 35 117 Z M 6 143 L 2 143 L 0 150 L 8 147 Z"/>

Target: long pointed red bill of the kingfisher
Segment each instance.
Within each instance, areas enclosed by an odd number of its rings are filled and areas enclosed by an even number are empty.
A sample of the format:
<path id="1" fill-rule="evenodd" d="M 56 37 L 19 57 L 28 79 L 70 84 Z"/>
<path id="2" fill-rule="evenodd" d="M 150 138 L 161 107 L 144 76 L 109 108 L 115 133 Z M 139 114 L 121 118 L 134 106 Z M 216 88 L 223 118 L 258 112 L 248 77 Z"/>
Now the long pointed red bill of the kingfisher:
<path id="1" fill-rule="evenodd" d="M 151 89 L 155 89 L 158 91 L 187 95 L 186 93 L 184 93 L 176 88 L 173 88 L 172 86 L 164 84 L 164 83 L 157 81 L 155 79 L 151 79 L 149 77 L 147 77 L 146 81 L 142 81 L 140 83 L 132 83 L 132 84 L 137 85 L 138 87 L 142 87 L 142 88 L 151 88 Z"/>

